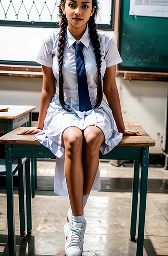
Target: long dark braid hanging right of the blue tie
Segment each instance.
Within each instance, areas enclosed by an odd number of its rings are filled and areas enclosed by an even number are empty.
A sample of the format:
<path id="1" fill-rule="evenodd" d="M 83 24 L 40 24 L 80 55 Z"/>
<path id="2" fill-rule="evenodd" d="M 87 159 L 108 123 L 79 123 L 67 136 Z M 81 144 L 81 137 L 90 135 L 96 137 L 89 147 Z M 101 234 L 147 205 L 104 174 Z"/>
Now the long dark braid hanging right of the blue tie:
<path id="1" fill-rule="evenodd" d="M 103 98 L 103 92 L 102 92 L 102 81 L 101 81 L 101 54 L 100 54 L 100 41 L 97 34 L 97 24 L 95 23 L 94 19 L 90 17 L 88 20 L 89 25 L 89 32 L 90 32 L 90 40 L 92 42 L 92 45 L 94 47 L 94 53 L 96 57 L 96 65 L 97 65 L 97 73 L 98 73 L 98 83 L 97 83 L 97 99 L 95 106 L 93 107 L 98 108 L 101 104 L 102 98 Z"/>

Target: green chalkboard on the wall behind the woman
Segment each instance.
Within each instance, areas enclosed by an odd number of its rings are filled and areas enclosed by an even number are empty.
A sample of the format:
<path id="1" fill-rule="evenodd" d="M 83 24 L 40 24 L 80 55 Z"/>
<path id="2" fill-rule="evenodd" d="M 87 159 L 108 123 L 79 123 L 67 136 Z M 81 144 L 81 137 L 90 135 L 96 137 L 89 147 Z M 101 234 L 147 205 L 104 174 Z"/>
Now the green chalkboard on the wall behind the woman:
<path id="1" fill-rule="evenodd" d="M 129 15 L 121 0 L 119 70 L 168 72 L 168 18 Z"/>

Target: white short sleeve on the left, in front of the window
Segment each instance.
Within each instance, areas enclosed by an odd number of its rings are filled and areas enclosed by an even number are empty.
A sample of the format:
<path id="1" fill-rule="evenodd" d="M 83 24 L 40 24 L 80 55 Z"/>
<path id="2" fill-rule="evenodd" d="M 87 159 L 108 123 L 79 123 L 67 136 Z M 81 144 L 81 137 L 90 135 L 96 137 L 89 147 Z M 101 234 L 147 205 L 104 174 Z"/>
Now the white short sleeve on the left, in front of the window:
<path id="1" fill-rule="evenodd" d="M 53 39 L 50 33 L 48 33 L 43 40 L 42 46 L 39 50 L 39 53 L 36 58 L 36 62 L 52 68 L 52 47 L 53 47 Z"/>

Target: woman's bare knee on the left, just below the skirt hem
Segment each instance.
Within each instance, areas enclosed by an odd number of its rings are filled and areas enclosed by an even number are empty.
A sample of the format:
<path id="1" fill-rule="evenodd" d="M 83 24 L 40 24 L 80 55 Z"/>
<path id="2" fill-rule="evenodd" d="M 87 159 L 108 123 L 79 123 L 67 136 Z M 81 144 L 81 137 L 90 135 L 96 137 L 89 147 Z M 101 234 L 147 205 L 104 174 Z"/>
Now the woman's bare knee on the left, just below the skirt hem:
<path id="1" fill-rule="evenodd" d="M 66 131 L 66 130 L 65 130 Z M 63 138 L 64 138 L 64 145 L 65 145 L 65 148 L 66 150 L 69 150 L 69 151 L 79 151 L 79 148 L 81 147 L 82 148 L 82 139 L 83 139 L 83 136 L 82 136 L 82 132 L 81 131 L 69 131 L 69 132 L 64 132 L 64 135 L 63 135 Z"/>

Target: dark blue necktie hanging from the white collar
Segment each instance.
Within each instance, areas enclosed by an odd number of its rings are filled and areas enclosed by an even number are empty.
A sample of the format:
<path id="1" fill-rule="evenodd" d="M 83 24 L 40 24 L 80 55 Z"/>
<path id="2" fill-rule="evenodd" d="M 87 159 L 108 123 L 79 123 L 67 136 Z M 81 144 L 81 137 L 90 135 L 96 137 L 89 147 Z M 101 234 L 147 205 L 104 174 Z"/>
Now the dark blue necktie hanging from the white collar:
<path id="1" fill-rule="evenodd" d="M 76 70 L 78 77 L 78 95 L 79 95 L 79 110 L 80 111 L 88 111 L 92 109 L 92 105 L 90 102 L 86 70 L 85 70 L 85 62 L 82 53 L 82 49 L 84 45 L 80 42 L 79 44 L 73 44 L 75 47 L 75 61 L 76 61 Z"/>

